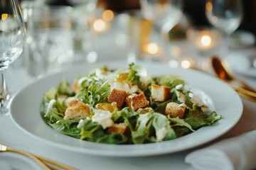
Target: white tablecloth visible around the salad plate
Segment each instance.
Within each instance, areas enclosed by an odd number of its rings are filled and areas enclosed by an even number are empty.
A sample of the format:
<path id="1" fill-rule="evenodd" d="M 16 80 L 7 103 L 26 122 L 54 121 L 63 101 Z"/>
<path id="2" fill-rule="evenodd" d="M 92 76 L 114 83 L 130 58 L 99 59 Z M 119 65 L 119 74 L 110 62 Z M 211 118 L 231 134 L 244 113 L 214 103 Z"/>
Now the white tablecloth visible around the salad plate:
<path id="1" fill-rule="evenodd" d="M 178 45 L 182 47 L 186 43 L 178 42 Z M 244 52 L 248 52 L 248 50 L 245 49 Z M 255 48 L 252 47 L 250 52 L 255 52 Z M 35 80 L 35 78 L 28 76 L 26 69 L 22 66 L 10 67 L 6 76 L 8 77 L 9 89 L 14 91 L 21 90 L 24 86 Z M 256 89 L 256 78 L 240 78 L 247 81 Z M 186 154 L 224 138 L 234 137 L 242 134 L 242 132 L 256 130 L 256 104 L 245 99 L 242 99 L 242 103 L 244 105 L 242 118 L 229 132 L 206 145 L 174 154 L 155 157 L 112 158 L 68 152 L 65 149 L 55 148 L 41 140 L 31 137 L 31 135 L 19 129 L 9 116 L 0 117 L 0 144 L 48 157 L 49 159 L 74 166 L 77 169 L 193 169 L 189 164 L 184 162 Z"/>

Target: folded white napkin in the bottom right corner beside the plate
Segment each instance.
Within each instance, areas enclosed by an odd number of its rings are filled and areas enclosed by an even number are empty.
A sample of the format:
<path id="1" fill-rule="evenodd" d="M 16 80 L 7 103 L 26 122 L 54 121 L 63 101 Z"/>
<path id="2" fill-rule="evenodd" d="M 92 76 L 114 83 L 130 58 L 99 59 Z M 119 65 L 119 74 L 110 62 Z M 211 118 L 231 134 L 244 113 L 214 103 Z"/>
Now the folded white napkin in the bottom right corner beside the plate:
<path id="1" fill-rule="evenodd" d="M 185 162 L 195 169 L 256 169 L 256 130 L 191 152 Z"/>

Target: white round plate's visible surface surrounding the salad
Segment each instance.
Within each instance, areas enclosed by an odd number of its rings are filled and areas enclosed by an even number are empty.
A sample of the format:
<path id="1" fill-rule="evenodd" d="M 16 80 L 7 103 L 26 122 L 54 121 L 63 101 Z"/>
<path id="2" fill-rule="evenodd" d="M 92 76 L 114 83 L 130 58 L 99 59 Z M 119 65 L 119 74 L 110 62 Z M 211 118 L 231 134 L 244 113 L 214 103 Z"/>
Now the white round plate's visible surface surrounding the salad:
<path id="1" fill-rule="evenodd" d="M 142 65 L 141 63 L 138 63 Z M 223 118 L 215 125 L 197 130 L 175 140 L 144 145 L 108 145 L 86 142 L 56 132 L 43 122 L 39 113 L 42 94 L 50 87 L 57 86 L 65 76 L 70 82 L 75 76 L 96 67 L 107 65 L 110 68 L 127 67 L 124 63 L 101 63 L 76 67 L 71 71 L 53 74 L 26 86 L 14 97 L 11 103 L 11 118 L 19 128 L 47 142 L 48 145 L 68 149 L 73 152 L 112 157 L 136 157 L 166 154 L 182 151 L 214 140 L 233 128 L 242 115 L 242 101 L 233 89 L 215 77 L 195 70 L 171 69 L 164 64 L 143 63 L 143 67 L 154 76 L 174 74 L 187 81 L 188 86 L 201 89 L 213 100 L 215 110 Z"/>

